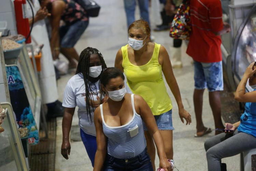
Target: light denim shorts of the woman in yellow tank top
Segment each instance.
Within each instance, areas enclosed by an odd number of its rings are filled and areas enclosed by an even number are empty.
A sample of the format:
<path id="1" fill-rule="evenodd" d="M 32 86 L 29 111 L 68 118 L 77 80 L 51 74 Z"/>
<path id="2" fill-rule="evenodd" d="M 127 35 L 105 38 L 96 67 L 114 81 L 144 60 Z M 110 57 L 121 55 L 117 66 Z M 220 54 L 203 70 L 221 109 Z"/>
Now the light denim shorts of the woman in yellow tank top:
<path id="1" fill-rule="evenodd" d="M 172 126 L 172 110 L 165 112 L 160 115 L 154 115 L 156 120 L 156 125 L 159 130 L 174 130 Z M 147 131 L 146 125 L 143 122 L 144 131 Z"/>

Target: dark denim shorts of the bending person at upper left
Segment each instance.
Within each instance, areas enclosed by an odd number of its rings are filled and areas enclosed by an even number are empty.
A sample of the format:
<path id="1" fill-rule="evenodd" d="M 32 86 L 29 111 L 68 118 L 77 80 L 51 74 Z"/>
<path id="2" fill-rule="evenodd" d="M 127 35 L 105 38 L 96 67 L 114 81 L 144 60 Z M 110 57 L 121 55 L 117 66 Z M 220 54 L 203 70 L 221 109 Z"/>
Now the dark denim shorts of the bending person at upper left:
<path id="1" fill-rule="evenodd" d="M 72 48 L 87 28 L 89 21 L 76 21 L 59 28 L 60 47 Z"/>

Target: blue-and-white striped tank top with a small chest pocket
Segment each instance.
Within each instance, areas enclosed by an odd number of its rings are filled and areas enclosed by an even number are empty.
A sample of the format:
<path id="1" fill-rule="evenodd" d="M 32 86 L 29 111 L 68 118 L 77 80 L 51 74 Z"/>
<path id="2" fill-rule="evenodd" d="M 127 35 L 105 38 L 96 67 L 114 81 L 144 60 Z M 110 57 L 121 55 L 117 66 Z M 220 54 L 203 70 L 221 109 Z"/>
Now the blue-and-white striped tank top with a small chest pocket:
<path id="1" fill-rule="evenodd" d="M 108 138 L 107 153 L 115 158 L 133 158 L 146 148 L 142 119 L 134 108 L 133 96 L 134 94 L 131 95 L 132 119 L 122 126 L 108 126 L 104 121 L 103 109 L 100 105 L 103 133 Z"/>

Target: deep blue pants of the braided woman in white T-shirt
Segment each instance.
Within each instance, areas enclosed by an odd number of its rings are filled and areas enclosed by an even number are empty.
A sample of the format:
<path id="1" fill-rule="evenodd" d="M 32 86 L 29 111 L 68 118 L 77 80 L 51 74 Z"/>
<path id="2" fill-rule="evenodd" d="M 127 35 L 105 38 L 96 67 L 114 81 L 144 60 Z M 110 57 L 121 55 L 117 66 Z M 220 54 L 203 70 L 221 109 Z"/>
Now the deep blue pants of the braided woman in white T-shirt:
<path id="1" fill-rule="evenodd" d="M 94 167 L 94 158 L 97 150 L 96 137 L 86 134 L 81 128 L 80 128 L 80 135 L 84 143 L 86 152 L 91 160 L 91 165 Z"/>

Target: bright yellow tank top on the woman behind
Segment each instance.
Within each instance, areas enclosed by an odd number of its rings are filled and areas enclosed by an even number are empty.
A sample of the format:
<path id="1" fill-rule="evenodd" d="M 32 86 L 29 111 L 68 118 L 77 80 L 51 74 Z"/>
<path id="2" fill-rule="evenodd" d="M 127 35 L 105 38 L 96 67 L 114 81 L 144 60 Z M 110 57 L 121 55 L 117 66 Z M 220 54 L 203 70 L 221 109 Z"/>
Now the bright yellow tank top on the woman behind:
<path id="1" fill-rule="evenodd" d="M 162 77 L 162 66 L 158 62 L 160 44 L 155 43 L 153 55 L 145 65 L 133 65 L 128 58 L 127 46 L 121 48 L 122 66 L 127 77 L 127 84 L 132 93 L 141 95 L 150 106 L 154 115 L 172 109 L 172 102 L 167 93 Z"/>

